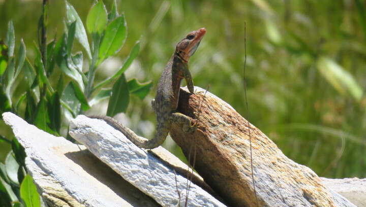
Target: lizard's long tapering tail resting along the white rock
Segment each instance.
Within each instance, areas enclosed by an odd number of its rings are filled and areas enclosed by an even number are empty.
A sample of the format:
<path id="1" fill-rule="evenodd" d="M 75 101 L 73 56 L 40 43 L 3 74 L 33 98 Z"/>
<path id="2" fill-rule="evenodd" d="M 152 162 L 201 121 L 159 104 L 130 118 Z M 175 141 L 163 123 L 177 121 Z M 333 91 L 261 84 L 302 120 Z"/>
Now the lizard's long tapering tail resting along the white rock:
<path id="1" fill-rule="evenodd" d="M 115 120 L 112 117 L 109 116 L 102 116 L 102 115 L 90 115 L 87 116 L 89 118 L 93 119 L 101 119 L 107 122 L 109 125 L 113 126 L 120 132 L 122 132 L 133 144 L 135 144 L 138 147 L 144 148 L 144 149 L 153 149 L 156 147 L 159 147 L 163 142 L 165 141 L 165 137 L 169 133 L 169 126 L 163 126 L 169 123 L 158 123 L 157 127 L 157 133 L 152 140 L 147 140 L 144 137 L 138 136 L 134 131 L 129 129 L 128 127 L 124 126 L 117 120 Z M 160 130 L 162 129 L 162 130 Z M 167 129 L 167 130 L 164 130 Z"/>

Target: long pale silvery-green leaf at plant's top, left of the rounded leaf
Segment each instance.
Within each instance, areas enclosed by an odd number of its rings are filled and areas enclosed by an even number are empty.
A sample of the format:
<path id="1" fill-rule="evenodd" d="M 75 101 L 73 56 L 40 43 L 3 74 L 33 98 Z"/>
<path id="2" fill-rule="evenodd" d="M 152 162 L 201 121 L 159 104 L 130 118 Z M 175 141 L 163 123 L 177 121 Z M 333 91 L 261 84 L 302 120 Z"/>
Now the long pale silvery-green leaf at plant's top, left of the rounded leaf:
<path id="1" fill-rule="evenodd" d="M 89 42 L 86 36 L 84 25 L 75 11 L 74 7 L 66 2 L 66 19 L 67 23 L 71 24 L 72 22 L 76 21 L 76 32 L 75 37 L 80 42 L 80 44 L 84 47 L 86 54 L 89 59 L 92 59 L 92 53 L 90 52 Z"/>

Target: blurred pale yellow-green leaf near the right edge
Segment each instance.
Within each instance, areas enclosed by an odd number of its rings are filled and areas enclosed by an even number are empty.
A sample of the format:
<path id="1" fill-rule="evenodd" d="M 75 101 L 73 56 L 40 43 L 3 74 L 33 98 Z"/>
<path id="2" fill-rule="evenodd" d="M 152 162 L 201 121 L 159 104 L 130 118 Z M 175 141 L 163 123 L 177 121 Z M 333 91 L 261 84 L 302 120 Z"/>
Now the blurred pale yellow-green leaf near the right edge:
<path id="1" fill-rule="evenodd" d="M 353 76 L 337 62 L 323 56 L 318 59 L 317 67 L 324 78 L 341 94 L 349 92 L 357 101 L 361 99 L 362 88 Z"/>

